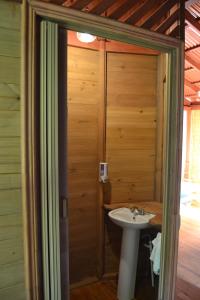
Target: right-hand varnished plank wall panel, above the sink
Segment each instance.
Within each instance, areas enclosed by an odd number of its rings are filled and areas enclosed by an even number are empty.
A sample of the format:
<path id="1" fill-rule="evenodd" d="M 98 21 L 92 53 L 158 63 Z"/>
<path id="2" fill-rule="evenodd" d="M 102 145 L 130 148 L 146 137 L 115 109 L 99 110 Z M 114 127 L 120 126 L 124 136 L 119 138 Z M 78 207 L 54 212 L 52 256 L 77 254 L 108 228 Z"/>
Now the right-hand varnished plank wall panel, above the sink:
<path id="1" fill-rule="evenodd" d="M 110 202 L 154 201 L 157 56 L 107 54 Z"/>

